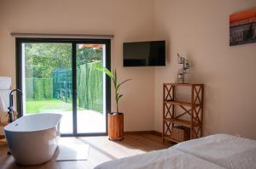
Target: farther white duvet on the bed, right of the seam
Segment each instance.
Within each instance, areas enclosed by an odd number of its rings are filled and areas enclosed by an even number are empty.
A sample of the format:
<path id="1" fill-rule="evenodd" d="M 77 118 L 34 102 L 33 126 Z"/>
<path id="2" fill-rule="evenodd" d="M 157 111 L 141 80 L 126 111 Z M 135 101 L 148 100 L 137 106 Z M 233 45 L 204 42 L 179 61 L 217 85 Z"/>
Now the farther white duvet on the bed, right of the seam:
<path id="1" fill-rule="evenodd" d="M 216 134 L 173 148 L 229 169 L 256 169 L 256 141 L 251 139 Z"/>

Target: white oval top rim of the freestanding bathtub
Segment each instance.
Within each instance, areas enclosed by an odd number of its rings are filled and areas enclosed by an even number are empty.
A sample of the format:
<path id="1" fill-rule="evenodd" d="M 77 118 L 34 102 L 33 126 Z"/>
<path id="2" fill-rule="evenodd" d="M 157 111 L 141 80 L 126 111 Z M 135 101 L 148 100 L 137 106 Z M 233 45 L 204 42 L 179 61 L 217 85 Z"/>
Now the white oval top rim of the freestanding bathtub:
<path id="1" fill-rule="evenodd" d="M 33 114 L 33 115 L 59 115 L 60 118 L 56 122 L 55 126 L 45 127 L 45 128 L 42 128 L 42 129 L 40 128 L 38 130 L 16 131 L 16 130 L 8 129 L 8 127 L 13 125 L 13 123 L 15 123 L 17 121 L 20 121 L 22 118 L 26 118 L 26 116 L 30 116 L 30 115 L 24 115 L 24 116 L 21 116 L 20 118 L 18 118 L 16 121 L 13 121 L 13 122 L 9 123 L 7 126 L 3 127 L 4 133 L 5 132 L 20 132 L 20 133 L 22 133 L 22 132 L 42 132 L 44 130 L 49 130 L 49 129 L 53 128 L 53 127 L 56 127 L 61 122 L 61 119 L 63 118 L 63 115 L 61 115 L 60 113 L 38 113 L 38 114 Z"/>

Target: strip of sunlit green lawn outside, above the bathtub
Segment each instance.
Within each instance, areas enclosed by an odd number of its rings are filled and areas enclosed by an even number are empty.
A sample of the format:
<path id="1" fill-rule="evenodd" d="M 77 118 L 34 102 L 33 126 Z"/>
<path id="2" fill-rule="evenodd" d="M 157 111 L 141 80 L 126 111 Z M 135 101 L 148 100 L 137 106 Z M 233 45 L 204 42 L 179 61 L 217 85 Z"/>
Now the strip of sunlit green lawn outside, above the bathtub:
<path id="1" fill-rule="evenodd" d="M 72 104 L 59 99 L 49 100 L 26 100 L 26 114 L 45 112 L 47 110 L 72 111 Z"/>

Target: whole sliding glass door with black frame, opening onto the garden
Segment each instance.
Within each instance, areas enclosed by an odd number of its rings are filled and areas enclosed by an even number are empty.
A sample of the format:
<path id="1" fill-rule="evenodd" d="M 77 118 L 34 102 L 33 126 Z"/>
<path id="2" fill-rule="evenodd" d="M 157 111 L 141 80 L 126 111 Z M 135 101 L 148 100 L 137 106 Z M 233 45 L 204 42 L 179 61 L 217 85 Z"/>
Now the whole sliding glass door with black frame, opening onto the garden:
<path id="1" fill-rule="evenodd" d="M 107 134 L 110 40 L 17 38 L 20 115 L 59 113 L 61 134 Z"/>

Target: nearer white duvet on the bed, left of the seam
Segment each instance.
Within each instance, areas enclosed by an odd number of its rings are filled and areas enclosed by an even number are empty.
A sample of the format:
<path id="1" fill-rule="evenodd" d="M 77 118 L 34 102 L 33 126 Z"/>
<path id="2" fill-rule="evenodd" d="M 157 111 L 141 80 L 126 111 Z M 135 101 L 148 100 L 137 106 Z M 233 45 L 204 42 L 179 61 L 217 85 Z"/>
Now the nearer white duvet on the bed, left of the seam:
<path id="1" fill-rule="evenodd" d="M 193 155 L 185 154 L 177 149 L 162 149 L 143 155 L 135 155 L 123 159 L 108 161 L 96 169 L 224 169 L 224 167 L 204 161 Z"/>

